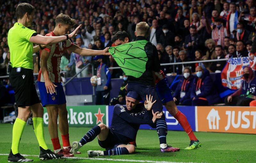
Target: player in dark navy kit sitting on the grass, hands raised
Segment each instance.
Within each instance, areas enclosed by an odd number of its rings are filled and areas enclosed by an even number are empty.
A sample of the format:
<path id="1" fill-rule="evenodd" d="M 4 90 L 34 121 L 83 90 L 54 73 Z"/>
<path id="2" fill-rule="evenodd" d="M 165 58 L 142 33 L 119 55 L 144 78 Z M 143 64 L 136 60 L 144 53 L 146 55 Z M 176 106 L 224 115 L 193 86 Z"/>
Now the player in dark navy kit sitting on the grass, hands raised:
<path id="1" fill-rule="evenodd" d="M 102 155 L 120 155 L 135 152 L 135 146 L 128 144 L 136 137 L 136 133 L 140 124 L 149 124 L 156 128 L 157 118 L 160 118 L 163 113 L 151 113 L 153 97 L 149 95 L 146 101 L 139 103 L 140 97 L 136 92 L 130 91 L 126 96 L 126 105 L 117 104 L 114 107 L 112 123 L 110 127 L 105 124 L 99 124 L 89 130 L 79 142 L 72 143 L 71 151 L 75 153 L 86 143 L 98 137 L 99 145 L 106 148 L 106 151 L 88 151 L 88 156 Z M 138 104 L 139 103 L 139 104 Z M 153 114 L 153 116 L 152 116 Z M 154 125 L 153 125 L 154 124 Z M 128 145 L 127 145 L 128 144 Z M 174 151 L 179 151 L 180 148 L 173 148 Z"/>

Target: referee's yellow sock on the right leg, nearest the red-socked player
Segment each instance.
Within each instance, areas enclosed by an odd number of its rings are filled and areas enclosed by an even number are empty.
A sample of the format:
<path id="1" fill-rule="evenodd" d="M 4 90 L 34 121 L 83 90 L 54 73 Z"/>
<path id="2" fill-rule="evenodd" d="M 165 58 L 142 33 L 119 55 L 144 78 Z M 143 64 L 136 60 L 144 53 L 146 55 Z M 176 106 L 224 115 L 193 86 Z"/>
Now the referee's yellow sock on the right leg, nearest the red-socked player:
<path id="1" fill-rule="evenodd" d="M 33 117 L 32 123 L 39 146 L 41 146 L 44 150 L 47 150 L 48 147 L 44 140 L 44 119 L 42 117 Z"/>

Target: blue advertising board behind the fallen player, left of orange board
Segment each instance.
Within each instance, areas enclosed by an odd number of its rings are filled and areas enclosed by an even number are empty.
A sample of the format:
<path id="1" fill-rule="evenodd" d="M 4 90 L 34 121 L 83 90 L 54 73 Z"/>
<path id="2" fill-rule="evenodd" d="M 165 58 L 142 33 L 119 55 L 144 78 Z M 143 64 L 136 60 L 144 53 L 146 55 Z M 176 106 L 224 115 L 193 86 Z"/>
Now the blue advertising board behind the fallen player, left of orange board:
<path id="1" fill-rule="evenodd" d="M 177 107 L 188 118 L 188 122 L 189 122 L 192 130 L 195 131 L 196 130 L 195 107 L 194 106 L 177 106 Z M 109 124 L 109 126 L 111 125 L 113 110 L 114 110 L 114 106 L 108 106 L 108 124 Z M 184 129 L 179 124 L 179 122 L 174 117 L 172 117 L 172 115 L 166 110 L 165 107 L 163 109 L 163 112 L 165 115 L 168 130 L 184 131 Z M 152 128 L 147 124 L 143 124 L 143 125 L 140 125 L 140 129 L 152 129 Z"/>

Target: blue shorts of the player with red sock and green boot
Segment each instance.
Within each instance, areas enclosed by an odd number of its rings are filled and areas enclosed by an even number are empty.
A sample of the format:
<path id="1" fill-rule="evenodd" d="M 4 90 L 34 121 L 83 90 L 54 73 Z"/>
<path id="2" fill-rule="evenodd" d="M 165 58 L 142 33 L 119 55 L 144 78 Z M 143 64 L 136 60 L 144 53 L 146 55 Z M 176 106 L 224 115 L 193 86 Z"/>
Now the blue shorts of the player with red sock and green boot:
<path id="1" fill-rule="evenodd" d="M 162 79 L 156 84 L 156 93 L 158 94 L 162 103 L 167 103 L 173 100 L 172 92 L 166 78 Z"/>

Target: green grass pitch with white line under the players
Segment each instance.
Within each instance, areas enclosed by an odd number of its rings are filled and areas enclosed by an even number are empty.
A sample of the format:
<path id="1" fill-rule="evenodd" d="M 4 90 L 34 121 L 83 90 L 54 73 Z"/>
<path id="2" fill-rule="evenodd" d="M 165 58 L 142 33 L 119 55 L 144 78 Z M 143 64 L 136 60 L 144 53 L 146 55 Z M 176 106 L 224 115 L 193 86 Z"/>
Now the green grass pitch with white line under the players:
<path id="1" fill-rule="evenodd" d="M 7 162 L 7 155 L 10 152 L 12 142 L 11 124 L 0 124 L 0 163 Z M 70 142 L 80 140 L 90 128 L 69 128 Z M 53 149 L 47 127 L 44 128 L 45 139 L 48 147 Z M 159 141 L 156 131 L 139 130 L 137 135 L 137 148 L 135 154 L 119 156 L 101 156 L 97 159 L 89 159 L 87 150 L 103 150 L 97 139 L 84 145 L 79 151 L 82 154 L 75 155 L 75 159 L 54 159 L 39 160 L 39 147 L 32 125 L 25 127 L 20 141 L 20 153 L 31 155 L 29 159 L 40 163 L 107 163 L 107 162 L 256 162 L 256 135 L 232 134 L 232 133 L 211 133 L 195 132 L 196 137 L 201 141 L 202 147 L 196 150 L 184 150 L 189 144 L 189 138 L 184 131 L 168 131 L 167 143 L 173 147 L 179 147 L 180 152 L 160 153 Z M 60 142 L 61 137 L 59 134 Z"/>

